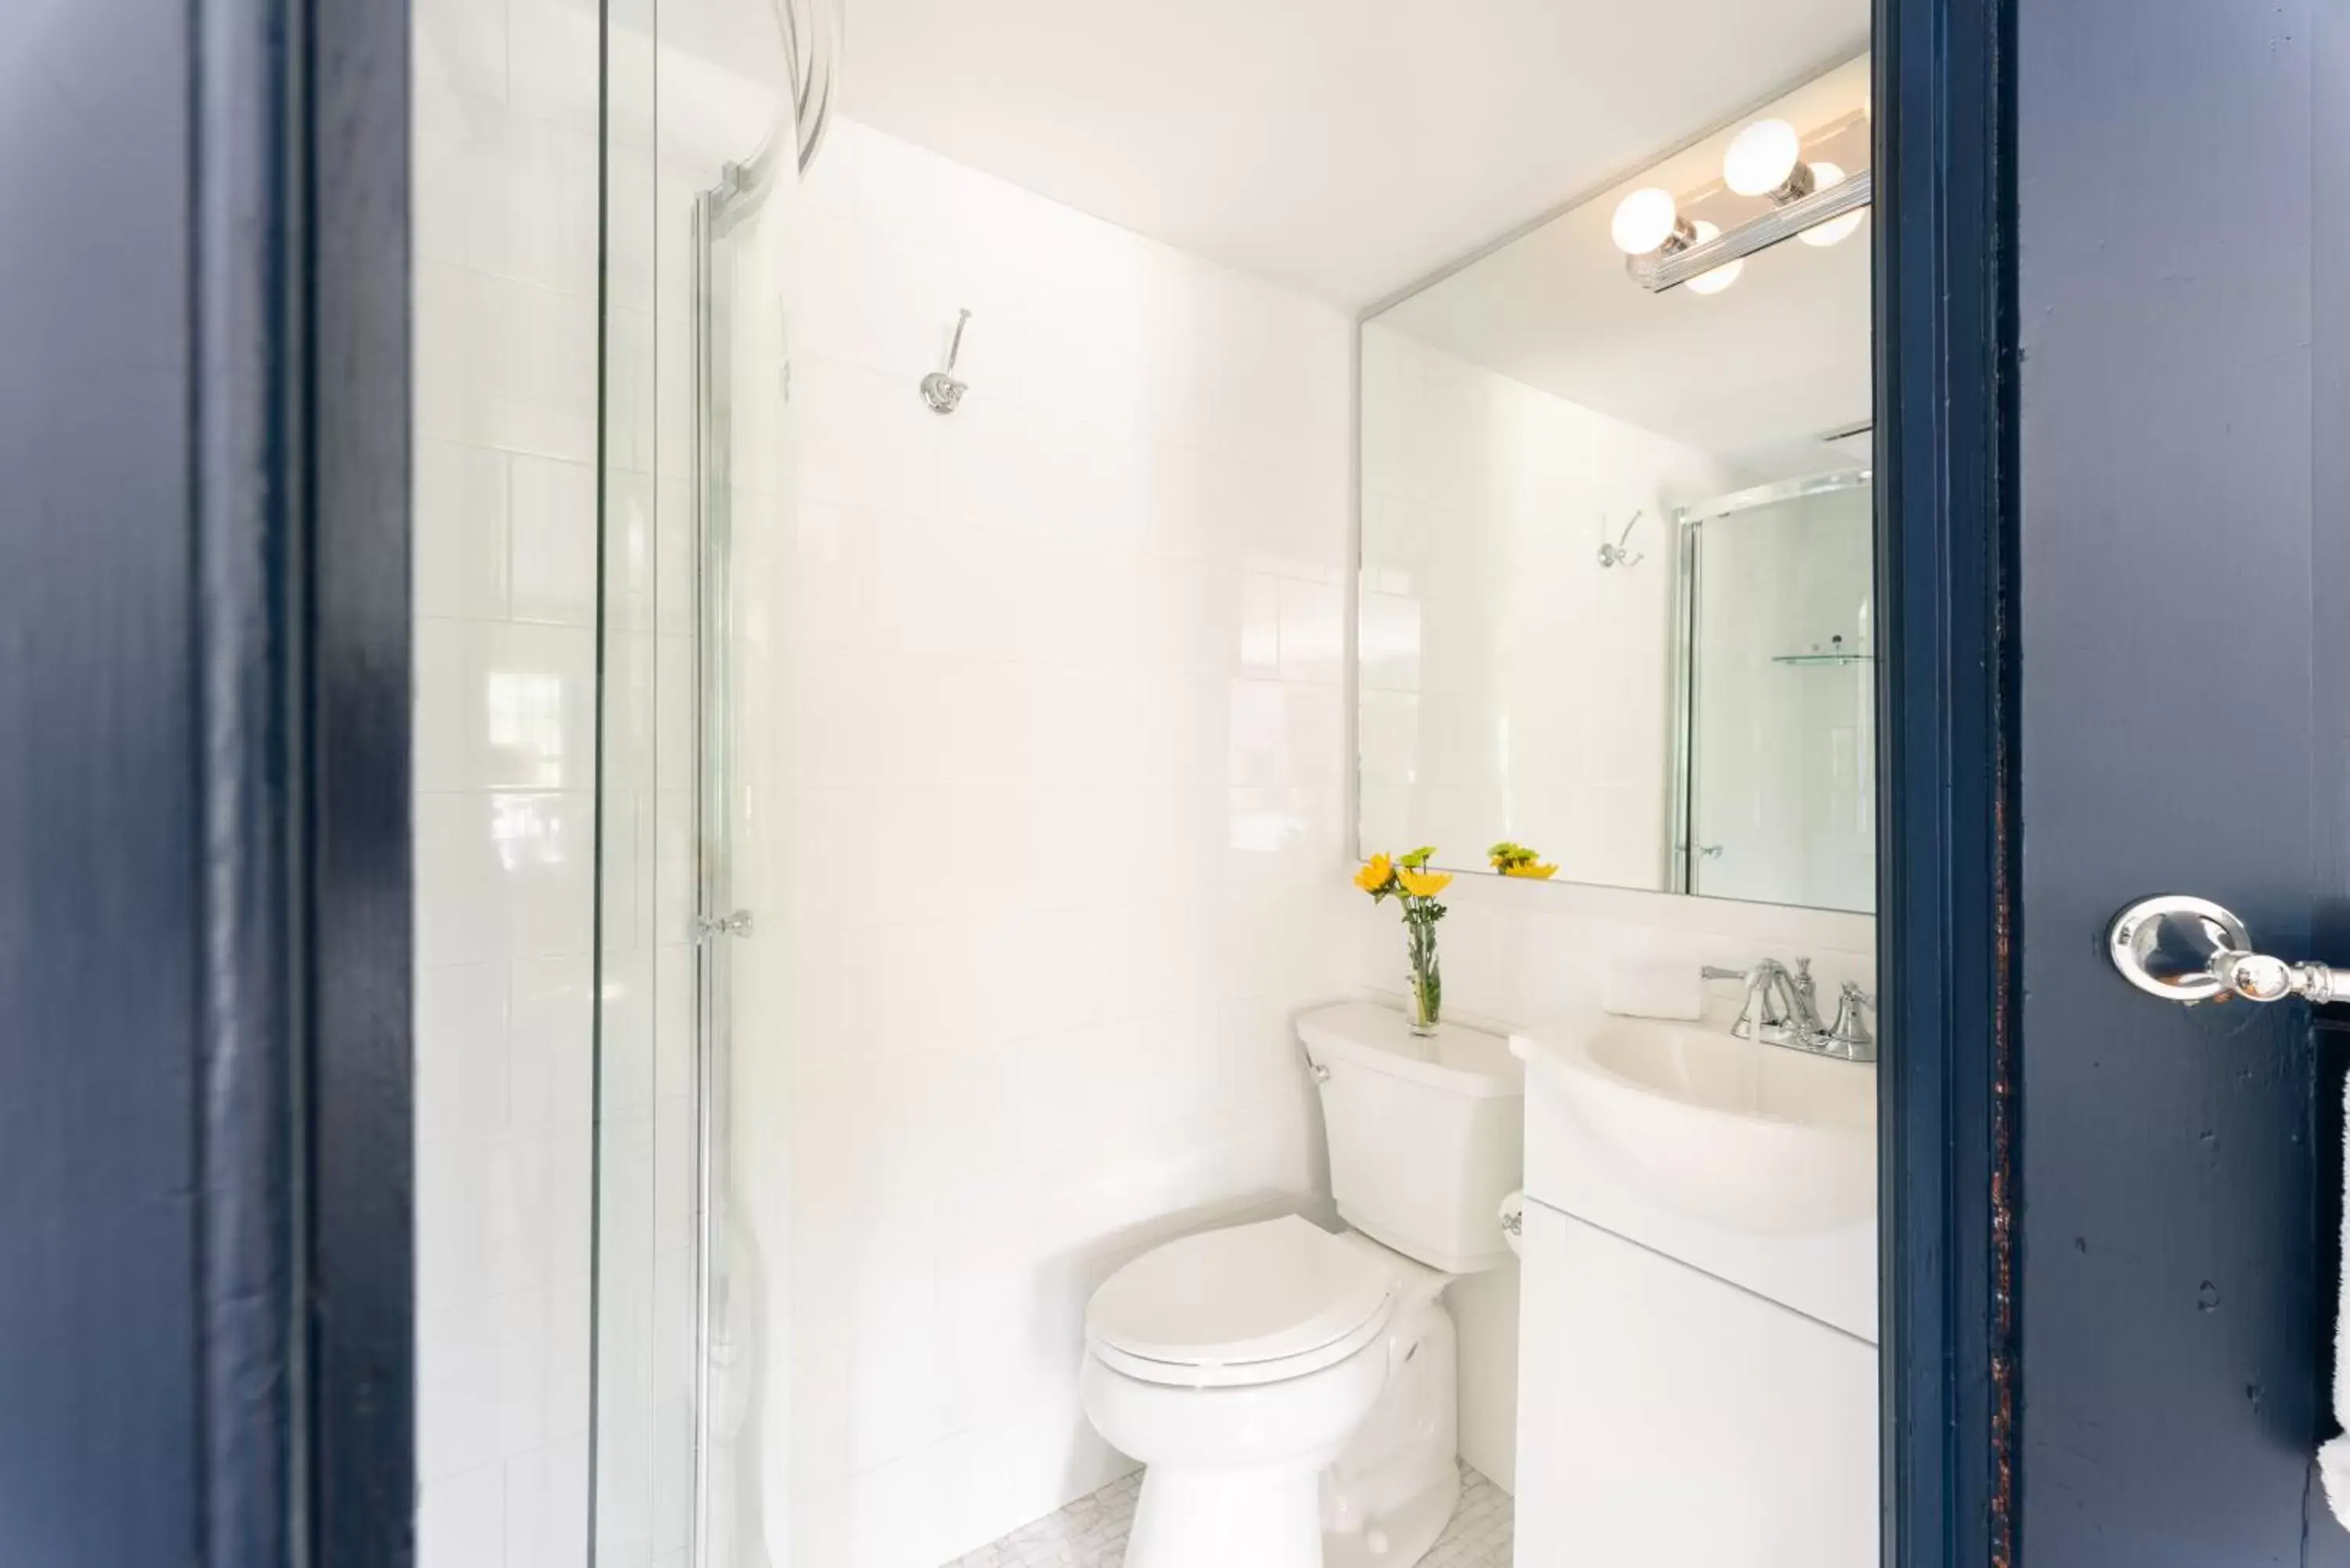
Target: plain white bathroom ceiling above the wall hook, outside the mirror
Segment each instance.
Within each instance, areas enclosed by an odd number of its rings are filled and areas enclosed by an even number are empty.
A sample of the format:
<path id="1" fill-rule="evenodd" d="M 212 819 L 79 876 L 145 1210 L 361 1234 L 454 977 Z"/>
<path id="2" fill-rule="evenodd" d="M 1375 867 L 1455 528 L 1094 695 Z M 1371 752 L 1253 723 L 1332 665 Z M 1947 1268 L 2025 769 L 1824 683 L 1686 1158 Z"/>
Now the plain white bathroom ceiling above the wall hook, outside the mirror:
<path id="1" fill-rule="evenodd" d="M 1337 306 L 1859 52 L 1866 0 L 846 0 L 841 106 Z"/>

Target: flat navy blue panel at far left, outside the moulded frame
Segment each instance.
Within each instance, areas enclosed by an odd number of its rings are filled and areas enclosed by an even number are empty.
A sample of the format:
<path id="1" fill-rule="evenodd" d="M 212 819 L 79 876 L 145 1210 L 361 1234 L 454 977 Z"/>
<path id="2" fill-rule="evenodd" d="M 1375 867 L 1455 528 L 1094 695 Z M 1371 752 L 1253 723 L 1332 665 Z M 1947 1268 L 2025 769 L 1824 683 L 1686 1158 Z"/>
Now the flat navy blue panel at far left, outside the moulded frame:
<path id="1" fill-rule="evenodd" d="M 200 1521 L 183 24 L 0 47 L 0 1556 L 68 1568 Z"/>

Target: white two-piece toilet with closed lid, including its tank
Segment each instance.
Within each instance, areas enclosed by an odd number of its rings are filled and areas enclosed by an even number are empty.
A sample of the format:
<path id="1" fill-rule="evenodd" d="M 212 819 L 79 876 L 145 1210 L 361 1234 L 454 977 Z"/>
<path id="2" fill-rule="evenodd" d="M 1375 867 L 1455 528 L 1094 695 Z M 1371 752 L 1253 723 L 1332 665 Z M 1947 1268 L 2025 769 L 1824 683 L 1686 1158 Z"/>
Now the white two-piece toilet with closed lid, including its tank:
<path id="1" fill-rule="evenodd" d="M 1368 1001 L 1297 1020 L 1344 1232 L 1300 1215 L 1142 1253 L 1086 1305 L 1079 1396 L 1144 1465 L 1126 1568 L 1408 1568 L 1459 1495 L 1443 1291 L 1509 1258 L 1509 1046 Z"/>

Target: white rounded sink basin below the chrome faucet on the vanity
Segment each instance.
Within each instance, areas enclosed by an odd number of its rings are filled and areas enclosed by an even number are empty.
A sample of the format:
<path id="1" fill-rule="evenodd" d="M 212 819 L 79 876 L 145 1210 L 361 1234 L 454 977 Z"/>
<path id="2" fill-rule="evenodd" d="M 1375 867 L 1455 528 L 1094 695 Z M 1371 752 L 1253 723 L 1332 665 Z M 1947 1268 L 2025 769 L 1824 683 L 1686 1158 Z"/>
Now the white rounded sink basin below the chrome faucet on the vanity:
<path id="1" fill-rule="evenodd" d="M 1737 1039 L 1727 1020 L 1574 1018 L 1509 1048 L 1593 1152 L 1659 1201 L 1746 1232 L 1875 1208 L 1878 1070 Z"/>

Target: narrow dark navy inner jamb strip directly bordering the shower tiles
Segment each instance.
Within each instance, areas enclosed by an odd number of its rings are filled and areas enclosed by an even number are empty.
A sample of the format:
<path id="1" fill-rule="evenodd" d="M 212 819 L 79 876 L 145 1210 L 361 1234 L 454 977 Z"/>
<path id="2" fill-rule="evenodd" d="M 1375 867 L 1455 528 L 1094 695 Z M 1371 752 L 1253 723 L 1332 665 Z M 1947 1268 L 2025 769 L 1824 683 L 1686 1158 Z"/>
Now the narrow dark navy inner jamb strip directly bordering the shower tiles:
<path id="1" fill-rule="evenodd" d="M 303 367 L 308 839 L 296 1053 L 308 1458 L 294 1516 L 322 1568 L 416 1561 L 409 0 L 291 14 Z M 219 0 L 207 0 L 207 9 Z M 240 1561 L 240 1559 L 223 1559 Z M 249 1561 L 249 1559 L 244 1559 Z"/>

